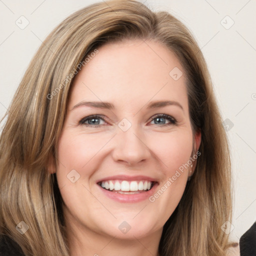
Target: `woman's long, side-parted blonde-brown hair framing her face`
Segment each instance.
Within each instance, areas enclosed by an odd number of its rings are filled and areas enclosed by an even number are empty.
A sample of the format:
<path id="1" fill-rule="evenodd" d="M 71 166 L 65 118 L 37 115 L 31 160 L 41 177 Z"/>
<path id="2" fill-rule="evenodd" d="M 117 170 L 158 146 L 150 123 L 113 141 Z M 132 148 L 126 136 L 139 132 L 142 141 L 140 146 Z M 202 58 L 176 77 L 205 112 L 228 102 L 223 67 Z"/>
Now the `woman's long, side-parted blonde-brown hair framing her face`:
<path id="1" fill-rule="evenodd" d="M 164 224 L 159 254 L 225 255 L 228 235 L 220 227 L 231 222 L 230 159 L 204 58 L 179 20 L 134 0 L 109 0 L 76 11 L 47 36 L 31 60 L 0 137 L 0 233 L 26 255 L 69 255 L 61 188 L 47 164 L 52 157 L 56 166 L 70 74 L 100 45 L 125 39 L 154 40 L 177 55 L 185 70 L 193 132 L 201 131 L 201 155 Z M 24 234 L 15 228 L 20 221 L 29 226 Z"/>

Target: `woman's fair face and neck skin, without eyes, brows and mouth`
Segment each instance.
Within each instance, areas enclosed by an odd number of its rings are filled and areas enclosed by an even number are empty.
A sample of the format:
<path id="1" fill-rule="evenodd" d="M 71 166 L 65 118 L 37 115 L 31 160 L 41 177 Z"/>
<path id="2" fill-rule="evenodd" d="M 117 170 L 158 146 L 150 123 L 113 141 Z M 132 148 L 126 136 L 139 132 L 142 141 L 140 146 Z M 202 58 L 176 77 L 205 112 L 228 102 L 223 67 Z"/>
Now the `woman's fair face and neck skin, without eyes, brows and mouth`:
<path id="1" fill-rule="evenodd" d="M 157 178 L 160 188 L 189 160 L 193 145 L 198 149 L 200 134 L 192 134 L 185 77 L 175 81 L 169 75 L 174 67 L 184 70 L 158 42 L 126 40 L 98 51 L 75 76 L 57 148 L 56 176 L 70 255 L 157 255 L 162 227 L 195 164 L 154 202 L 117 202 L 106 197 L 96 181 L 111 175 L 147 175 Z M 173 100 L 182 108 L 173 104 L 147 109 L 155 100 Z M 114 108 L 73 108 L 81 101 L 107 101 Z M 100 119 L 100 126 L 79 123 L 92 114 L 105 121 Z M 163 118 L 156 124 L 150 117 L 157 114 L 170 115 L 177 123 Z M 123 118 L 131 123 L 127 131 L 118 126 Z M 80 175 L 74 183 L 67 178 L 72 169 Z M 123 221 L 131 227 L 127 233 L 118 228 Z"/>

